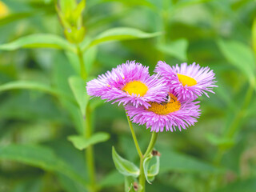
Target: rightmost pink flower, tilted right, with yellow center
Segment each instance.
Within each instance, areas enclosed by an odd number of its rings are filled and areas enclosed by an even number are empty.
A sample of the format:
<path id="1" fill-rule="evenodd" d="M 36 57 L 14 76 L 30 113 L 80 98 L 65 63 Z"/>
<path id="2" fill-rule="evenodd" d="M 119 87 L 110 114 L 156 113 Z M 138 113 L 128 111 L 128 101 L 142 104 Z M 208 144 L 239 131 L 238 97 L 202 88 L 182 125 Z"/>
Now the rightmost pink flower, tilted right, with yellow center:
<path id="1" fill-rule="evenodd" d="M 178 98 L 190 98 L 192 100 L 198 98 L 202 94 L 209 95 L 206 91 L 214 93 L 212 90 L 215 77 L 213 70 L 208 66 L 201 67 L 195 62 L 187 65 L 186 62 L 181 66 L 169 66 L 166 62 L 158 62 L 154 72 L 161 74 L 162 78 L 170 85 L 170 90 L 178 93 Z"/>

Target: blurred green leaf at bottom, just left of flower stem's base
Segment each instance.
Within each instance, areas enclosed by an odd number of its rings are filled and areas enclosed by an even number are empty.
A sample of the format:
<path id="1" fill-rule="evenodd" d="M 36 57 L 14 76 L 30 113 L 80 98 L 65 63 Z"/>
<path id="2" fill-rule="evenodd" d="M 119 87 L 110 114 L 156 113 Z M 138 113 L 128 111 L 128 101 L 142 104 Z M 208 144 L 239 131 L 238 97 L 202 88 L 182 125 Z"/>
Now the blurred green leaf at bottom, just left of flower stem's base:
<path id="1" fill-rule="evenodd" d="M 110 174 L 105 175 L 102 178 L 102 181 L 99 183 L 99 186 L 102 188 L 111 187 L 111 186 L 118 186 L 123 183 L 123 176 L 118 171 L 114 170 L 110 172 Z"/>

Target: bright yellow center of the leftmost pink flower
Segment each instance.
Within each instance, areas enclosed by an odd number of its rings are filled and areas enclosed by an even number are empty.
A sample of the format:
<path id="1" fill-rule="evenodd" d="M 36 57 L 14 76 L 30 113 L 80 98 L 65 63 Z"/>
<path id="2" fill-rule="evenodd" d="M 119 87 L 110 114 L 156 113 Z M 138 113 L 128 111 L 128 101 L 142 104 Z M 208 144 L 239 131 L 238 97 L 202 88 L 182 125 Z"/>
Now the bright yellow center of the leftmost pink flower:
<path id="1" fill-rule="evenodd" d="M 143 82 L 133 81 L 126 83 L 126 85 L 122 87 L 122 90 L 130 95 L 137 94 L 138 96 L 139 94 L 140 96 L 144 96 L 149 88 Z"/>

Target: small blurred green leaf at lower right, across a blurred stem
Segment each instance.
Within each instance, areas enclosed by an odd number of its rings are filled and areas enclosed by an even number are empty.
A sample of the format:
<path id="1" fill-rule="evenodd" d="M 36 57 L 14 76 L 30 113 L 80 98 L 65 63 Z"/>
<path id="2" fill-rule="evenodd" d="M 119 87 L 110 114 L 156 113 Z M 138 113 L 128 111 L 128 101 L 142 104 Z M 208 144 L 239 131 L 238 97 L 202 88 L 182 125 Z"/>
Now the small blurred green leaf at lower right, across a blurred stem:
<path id="1" fill-rule="evenodd" d="M 222 149 L 230 149 L 230 147 L 234 146 L 234 140 L 231 138 L 220 138 L 214 134 L 207 134 L 207 140 L 214 146 L 219 146 Z"/>

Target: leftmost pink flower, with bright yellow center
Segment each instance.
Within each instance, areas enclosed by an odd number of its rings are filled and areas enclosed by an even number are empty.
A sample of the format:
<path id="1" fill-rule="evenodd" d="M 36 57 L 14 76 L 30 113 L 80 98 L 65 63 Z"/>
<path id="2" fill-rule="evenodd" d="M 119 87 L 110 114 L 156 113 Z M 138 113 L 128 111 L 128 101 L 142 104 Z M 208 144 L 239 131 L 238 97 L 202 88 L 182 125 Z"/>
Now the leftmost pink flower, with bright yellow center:
<path id="1" fill-rule="evenodd" d="M 87 82 L 86 89 L 87 94 L 107 102 L 131 103 L 146 108 L 150 106 L 149 102 L 162 102 L 167 94 L 164 80 L 159 75 L 150 76 L 148 67 L 134 61 L 127 61 L 99 75 Z"/>

